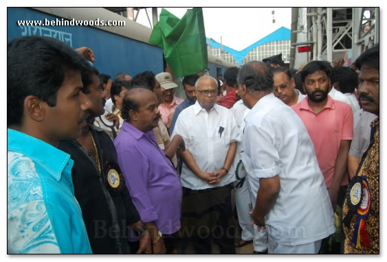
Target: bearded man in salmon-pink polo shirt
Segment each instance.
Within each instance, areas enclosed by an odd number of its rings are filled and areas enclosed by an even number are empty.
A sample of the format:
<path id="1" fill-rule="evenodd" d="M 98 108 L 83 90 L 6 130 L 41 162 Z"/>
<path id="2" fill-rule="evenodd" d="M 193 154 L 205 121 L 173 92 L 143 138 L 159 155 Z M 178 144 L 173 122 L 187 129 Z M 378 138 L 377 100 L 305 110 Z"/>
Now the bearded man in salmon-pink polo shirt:
<path id="1" fill-rule="evenodd" d="M 309 62 L 301 72 L 307 97 L 291 108 L 302 119 L 311 136 L 335 210 L 336 204 L 342 206 L 348 184 L 348 176 L 344 175 L 353 135 L 353 114 L 351 106 L 329 97 L 331 72 L 328 62 Z M 339 191 L 343 192 L 342 195 Z"/>

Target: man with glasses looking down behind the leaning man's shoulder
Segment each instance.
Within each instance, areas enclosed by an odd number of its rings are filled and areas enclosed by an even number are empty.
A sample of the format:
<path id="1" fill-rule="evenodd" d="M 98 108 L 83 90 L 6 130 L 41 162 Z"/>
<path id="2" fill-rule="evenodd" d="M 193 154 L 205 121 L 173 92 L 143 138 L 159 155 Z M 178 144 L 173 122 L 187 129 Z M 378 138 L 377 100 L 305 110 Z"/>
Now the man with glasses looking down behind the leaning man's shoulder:
<path id="1" fill-rule="evenodd" d="M 281 99 L 288 106 L 293 106 L 301 102 L 305 97 L 296 89 L 296 82 L 291 78 L 289 69 L 286 67 L 275 67 L 272 69 L 274 81 L 274 95 Z"/>

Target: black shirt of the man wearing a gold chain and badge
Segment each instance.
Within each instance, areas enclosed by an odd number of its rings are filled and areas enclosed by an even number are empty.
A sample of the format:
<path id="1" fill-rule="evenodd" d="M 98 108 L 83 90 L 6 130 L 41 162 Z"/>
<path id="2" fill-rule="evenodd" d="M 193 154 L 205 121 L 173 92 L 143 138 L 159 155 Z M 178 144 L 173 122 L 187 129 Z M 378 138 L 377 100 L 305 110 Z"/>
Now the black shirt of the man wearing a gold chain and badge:
<path id="1" fill-rule="evenodd" d="M 110 191 L 112 188 L 106 174 L 112 163 L 118 166 L 117 153 L 106 132 L 95 126 L 90 128 L 98 149 L 102 174 L 93 156 L 78 141 L 60 141 L 59 149 L 70 154 L 74 160 L 71 171 L 74 193 L 82 209 L 91 250 L 94 254 L 127 254 L 130 248 L 126 227 L 139 221 L 140 215 L 122 176 L 118 191 Z"/>

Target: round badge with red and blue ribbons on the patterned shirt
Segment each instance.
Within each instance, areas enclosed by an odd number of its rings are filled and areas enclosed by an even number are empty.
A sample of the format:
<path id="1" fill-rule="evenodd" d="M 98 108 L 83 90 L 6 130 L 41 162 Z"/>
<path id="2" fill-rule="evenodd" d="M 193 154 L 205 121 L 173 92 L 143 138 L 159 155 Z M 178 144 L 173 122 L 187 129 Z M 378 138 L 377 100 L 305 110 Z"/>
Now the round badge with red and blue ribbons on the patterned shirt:
<path id="1" fill-rule="evenodd" d="M 353 230 L 351 245 L 356 248 L 371 246 L 366 230 L 366 218 L 371 212 L 371 192 L 366 176 L 355 176 L 351 180 L 346 191 L 346 202 L 349 212 L 343 219 L 343 224 L 349 228 L 353 215 L 356 215 L 356 223 Z"/>

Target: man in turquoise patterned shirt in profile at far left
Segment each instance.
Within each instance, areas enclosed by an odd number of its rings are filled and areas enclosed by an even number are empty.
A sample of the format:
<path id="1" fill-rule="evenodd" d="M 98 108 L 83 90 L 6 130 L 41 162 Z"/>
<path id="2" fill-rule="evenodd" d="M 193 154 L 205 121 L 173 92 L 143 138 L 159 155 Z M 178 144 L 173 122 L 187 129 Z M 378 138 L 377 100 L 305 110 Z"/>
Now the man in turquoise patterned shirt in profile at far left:
<path id="1" fill-rule="evenodd" d="M 87 61 L 54 38 L 8 43 L 7 252 L 91 253 L 71 180 L 73 161 L 56 147 L 86 125 Z"/>

